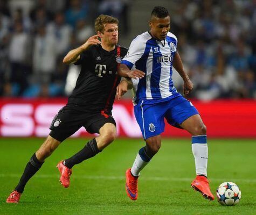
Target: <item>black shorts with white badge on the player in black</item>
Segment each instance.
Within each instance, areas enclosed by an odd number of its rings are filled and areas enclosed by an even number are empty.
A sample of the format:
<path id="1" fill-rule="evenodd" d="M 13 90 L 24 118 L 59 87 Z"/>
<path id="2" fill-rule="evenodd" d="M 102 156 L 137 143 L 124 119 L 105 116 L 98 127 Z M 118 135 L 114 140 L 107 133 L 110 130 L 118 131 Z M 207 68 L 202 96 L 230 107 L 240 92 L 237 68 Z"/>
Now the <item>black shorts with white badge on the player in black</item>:
<path id="1" fill-rule="evenodd" d="M 116 126 L 115 120 L 110 114 L 82 112 L 65 106 L 53 118 L 50 136 L 62 142 L 77 132 L 80 127 L 85 127 L 88 133 L 94 134 L 99 133 L 100 128 L 106 123 Z"/>

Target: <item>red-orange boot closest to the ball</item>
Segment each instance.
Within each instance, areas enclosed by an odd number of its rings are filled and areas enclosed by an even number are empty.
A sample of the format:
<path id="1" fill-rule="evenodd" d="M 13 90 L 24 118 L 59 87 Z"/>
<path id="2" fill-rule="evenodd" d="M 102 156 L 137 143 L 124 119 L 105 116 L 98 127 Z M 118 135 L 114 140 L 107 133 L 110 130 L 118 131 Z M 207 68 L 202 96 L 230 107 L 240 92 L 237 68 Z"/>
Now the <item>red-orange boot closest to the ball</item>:
<path id="1" fill-rule="evenodd" d="M 197 175 L 196 178 L 191 183 L 191 188 L 199 191 L 205 199 L 214 200 L 215 197 L 212 195 L 209 182 L 205 176 Z"/>

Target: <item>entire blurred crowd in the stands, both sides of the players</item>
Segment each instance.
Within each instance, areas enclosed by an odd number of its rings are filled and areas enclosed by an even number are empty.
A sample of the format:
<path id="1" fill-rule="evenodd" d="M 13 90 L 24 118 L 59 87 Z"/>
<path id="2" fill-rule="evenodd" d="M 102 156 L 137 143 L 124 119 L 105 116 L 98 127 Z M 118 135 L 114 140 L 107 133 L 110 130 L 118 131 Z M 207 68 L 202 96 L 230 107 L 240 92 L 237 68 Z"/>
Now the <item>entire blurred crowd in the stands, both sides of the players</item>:
<path id="1" fill-rule="evenodd" d="M 63 63 L 65 54 L 95 33 L 101 13 L 119 18 L 120 37 L 129 33 L 135 1 L 0 0 L 0 96 L 70 94 L 78 70 Z M 171 32 L 195 88 L 190 96 L 256 98 L 256 1 L 171 2 Z M 180 78 L 176 87 L 182 91 Z"/>

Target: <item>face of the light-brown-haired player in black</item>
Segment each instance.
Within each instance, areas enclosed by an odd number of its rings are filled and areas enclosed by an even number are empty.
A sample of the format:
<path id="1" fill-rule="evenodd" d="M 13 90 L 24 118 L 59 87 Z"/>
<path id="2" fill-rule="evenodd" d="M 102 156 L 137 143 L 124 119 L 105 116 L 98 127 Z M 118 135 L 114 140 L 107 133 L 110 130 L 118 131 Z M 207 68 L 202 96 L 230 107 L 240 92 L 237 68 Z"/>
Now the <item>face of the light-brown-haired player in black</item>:
<path id="1" fill-rule="evenodd" d="M 118 42 L 118 26 L 116 24 L 105 24 L 104 32 L 100 34 L 101 42 L 107 45 L 115 45 Z"/>

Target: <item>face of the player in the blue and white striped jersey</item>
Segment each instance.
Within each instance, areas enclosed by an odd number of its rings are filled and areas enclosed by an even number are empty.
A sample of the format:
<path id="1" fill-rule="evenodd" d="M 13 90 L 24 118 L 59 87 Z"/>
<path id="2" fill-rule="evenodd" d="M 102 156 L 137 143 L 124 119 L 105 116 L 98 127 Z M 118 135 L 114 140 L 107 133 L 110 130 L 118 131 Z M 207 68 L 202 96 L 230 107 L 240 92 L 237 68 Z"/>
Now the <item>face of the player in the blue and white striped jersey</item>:
<path id="1" fill-rule="evenodd" d="M 150 33 L 158 40 L 165 40 L 167 32 L 170 30 L 170 17 L 151 17 L 149 21 Z"/>

